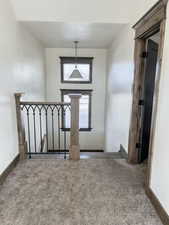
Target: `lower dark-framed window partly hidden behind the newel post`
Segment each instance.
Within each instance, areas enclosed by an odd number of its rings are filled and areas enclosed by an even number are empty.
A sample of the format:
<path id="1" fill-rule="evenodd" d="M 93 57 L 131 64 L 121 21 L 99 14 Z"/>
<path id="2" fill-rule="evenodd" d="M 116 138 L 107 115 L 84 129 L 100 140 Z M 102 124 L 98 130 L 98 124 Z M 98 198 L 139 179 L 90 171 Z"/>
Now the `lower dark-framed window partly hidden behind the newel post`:
<path id="1" fill-rule="evenodd" d="M 92 90 L 72 90 L 61 89 L 61 98 L 63 102 L 70 102 L 69 94 L 81 94 L 80 98 L 80 131 L 91 131 L 91 94 Z M 70 111 L 66 111 L 65 123 L 62 120 L 62 126 L 65 130 L 70 130 Z"/>

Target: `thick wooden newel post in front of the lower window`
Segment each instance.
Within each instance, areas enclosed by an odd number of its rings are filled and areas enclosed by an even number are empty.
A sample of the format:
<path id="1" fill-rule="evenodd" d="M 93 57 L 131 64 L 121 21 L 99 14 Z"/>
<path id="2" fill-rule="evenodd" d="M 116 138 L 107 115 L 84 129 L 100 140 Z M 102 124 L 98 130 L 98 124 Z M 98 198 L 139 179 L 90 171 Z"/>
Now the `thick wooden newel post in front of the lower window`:
<path id="1" fill-rule="evenodd" d="M 69 158 L 72 160 L 80 159 L 79 145 L 79 100 L 80 94 L 69 95 L 71 99 L 71 128 L 70 128 L 70 149 Z"/>

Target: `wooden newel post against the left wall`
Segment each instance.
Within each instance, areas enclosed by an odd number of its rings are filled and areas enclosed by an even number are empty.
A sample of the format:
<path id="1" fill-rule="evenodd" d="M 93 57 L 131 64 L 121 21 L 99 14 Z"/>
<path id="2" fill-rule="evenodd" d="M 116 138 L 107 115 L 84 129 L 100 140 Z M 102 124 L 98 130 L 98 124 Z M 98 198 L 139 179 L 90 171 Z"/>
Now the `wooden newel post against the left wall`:
<path id="1" fill-rule="evenodd" d="M 18 130 L 18 144 L 19 144 L 19 155 L 20 160 L 26 159 L 27 153 L 27 143 L 25 138 L 25 127 L 24 122 L 21 115 L 20 109 L 20 100 L 22 97 L 22 93 L 16 93 L 15 95 L 15 104 L 16 104 L 16 119 L 17 119 L 17 130 Z"/>

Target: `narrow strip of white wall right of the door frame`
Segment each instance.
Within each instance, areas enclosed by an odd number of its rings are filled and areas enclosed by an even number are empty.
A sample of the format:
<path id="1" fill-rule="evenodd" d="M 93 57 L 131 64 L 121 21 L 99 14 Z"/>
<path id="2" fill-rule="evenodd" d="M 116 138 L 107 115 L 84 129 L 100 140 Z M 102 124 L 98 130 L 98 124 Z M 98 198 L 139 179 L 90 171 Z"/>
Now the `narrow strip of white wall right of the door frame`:
<path id="1" fill-rule="evenodd" d="M 169 6 L 153 144 L 151 188 L 169 215 Z"/>

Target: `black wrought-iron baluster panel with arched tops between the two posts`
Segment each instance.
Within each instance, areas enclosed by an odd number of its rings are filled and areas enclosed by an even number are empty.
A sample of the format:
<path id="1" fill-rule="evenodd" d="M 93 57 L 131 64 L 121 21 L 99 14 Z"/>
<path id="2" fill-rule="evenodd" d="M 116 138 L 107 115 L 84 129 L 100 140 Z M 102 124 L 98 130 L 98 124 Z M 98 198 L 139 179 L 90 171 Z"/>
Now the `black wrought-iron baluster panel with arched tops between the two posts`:
<path id="1" fill-rule="evenodd" d="M 70 104 L 21 102 L 20 110 L 25 112 L 25 119 L 27 120 L 26 137 L 29 158 L 34 154 L 52 154 L 55 153 L 55 150 L 62 154 L 64 159 L 67 158 L 67 130 L 65 128 L 66 110 L 68 109 L 70 109 Z M 49 112 L 50 110 L 51 112 Z M 45 130 L 43 129 L 43 123 Z M 57 136 L 55 136 L 56 131 L 58 132 Z M 46 146 L 47 152 L 43 151 L 44 146 Z M 50 149 L 52 152 L 49 151 Z"/>

